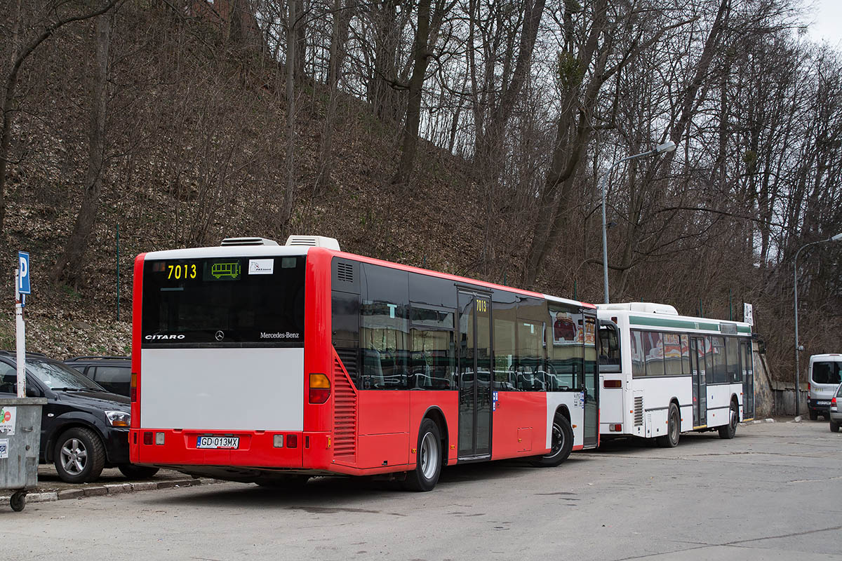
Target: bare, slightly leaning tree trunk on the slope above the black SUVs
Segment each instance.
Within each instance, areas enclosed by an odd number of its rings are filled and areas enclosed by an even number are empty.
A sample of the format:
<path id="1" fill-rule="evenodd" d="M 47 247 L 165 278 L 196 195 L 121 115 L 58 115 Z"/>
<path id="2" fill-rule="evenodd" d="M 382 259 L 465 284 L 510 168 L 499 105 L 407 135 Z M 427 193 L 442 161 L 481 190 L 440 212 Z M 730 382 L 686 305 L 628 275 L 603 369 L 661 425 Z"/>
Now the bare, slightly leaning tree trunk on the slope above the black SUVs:
<path id="1" fill-rule="evenodd" d="M 105 122 L 108 107 L 108 55 L 111 43 L 110 15 L 97 18 L 96 61 L 91 84 L 91 119 L 88 128 L 88 170 L 85 173 L 85 191 L 76 224 L 67 240 L 64 252 L 56 262 L 53 279 L 78 287 L 84 281 L 84 255 L 93 232 L 102 197 L 105 172 Z"/>

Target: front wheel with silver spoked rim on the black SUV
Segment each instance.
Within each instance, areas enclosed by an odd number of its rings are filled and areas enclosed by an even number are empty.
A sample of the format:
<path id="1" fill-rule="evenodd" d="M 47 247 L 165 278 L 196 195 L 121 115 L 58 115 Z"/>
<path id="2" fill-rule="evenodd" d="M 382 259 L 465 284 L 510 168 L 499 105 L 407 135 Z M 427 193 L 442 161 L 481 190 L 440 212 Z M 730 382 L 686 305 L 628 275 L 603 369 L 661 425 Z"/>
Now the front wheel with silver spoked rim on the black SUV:
<path id="1" fill-rule="evenodd" d="M 62 481 L 88 483 L 105 467 L 105 447 L 94 431 L 75 426 L 58 437 L 53 458 Z"/>

